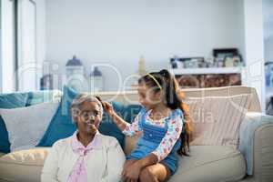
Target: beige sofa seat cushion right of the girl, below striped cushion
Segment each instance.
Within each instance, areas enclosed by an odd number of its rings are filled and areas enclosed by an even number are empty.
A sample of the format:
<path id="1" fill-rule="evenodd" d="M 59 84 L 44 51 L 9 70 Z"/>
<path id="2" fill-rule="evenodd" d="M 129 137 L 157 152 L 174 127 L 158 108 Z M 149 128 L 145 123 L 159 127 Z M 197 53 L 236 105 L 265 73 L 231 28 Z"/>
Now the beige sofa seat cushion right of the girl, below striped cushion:
<path id="1" fill-rule="evenodd" d="M 180 157 L 177 173 L 170 182 L 237 181 L 246 175 L 242 154 L 223 146 L 193 146 L 190 157 Z"/>

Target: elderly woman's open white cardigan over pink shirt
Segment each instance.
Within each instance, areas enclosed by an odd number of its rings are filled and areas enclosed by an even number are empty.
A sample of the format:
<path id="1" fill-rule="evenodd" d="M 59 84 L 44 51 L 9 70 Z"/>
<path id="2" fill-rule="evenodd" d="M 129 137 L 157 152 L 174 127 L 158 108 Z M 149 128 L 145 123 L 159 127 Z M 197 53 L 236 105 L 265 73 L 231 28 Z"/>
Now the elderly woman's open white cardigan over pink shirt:
<path id="1" fill-rule="evenodd" d="M 87 181 L 117 182 L 120 180 L 125 155 L 115 137 L 98 134 L 96 147 L 85 159 Z M 72 147 L 72 136 L 58 140 L 45 159 L 42 182 L 66 182 L 80 157 Z"/>

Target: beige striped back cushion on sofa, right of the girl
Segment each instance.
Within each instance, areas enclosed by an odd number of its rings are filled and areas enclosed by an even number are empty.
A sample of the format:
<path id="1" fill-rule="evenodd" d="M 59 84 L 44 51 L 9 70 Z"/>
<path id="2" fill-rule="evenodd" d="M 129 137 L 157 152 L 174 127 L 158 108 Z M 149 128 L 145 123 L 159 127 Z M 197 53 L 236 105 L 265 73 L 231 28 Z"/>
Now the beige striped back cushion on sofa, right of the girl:
<path id="1" fill-rule="evenodd" d="M 192 145 L 238 147 L 238 128 L 244 119 L 250 95 L 187 98 L 194 122 Z"/>

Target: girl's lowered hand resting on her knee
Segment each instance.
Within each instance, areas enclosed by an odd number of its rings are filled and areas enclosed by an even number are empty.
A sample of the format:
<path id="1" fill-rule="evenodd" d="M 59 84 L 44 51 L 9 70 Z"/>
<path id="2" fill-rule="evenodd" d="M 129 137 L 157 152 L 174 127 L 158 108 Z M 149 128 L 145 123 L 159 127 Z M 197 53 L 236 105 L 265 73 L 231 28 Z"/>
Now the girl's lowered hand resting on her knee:
<path id="1" fill-rule="evenodd" d="M 141 166 L 136 161 L 129 167 L 126 167 L 122 171 L 122 179 L 123 181 L 136 181 L 138 180 L 139 174 L 140 174 Z"/>

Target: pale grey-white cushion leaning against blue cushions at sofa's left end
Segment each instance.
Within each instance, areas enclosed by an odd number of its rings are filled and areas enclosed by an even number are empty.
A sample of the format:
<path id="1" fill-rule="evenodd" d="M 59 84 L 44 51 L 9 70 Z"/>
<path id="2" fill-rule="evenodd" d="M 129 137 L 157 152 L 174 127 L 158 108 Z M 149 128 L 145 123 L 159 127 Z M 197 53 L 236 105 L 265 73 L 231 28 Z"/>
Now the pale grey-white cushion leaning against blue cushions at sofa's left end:
<path id="1" fill-rule="evenodd" d="M 59 103 L 41 103 L 13 109 L 0 109 L 8 131 L 11 151 L 34 148 L 45 133 Z"/>

